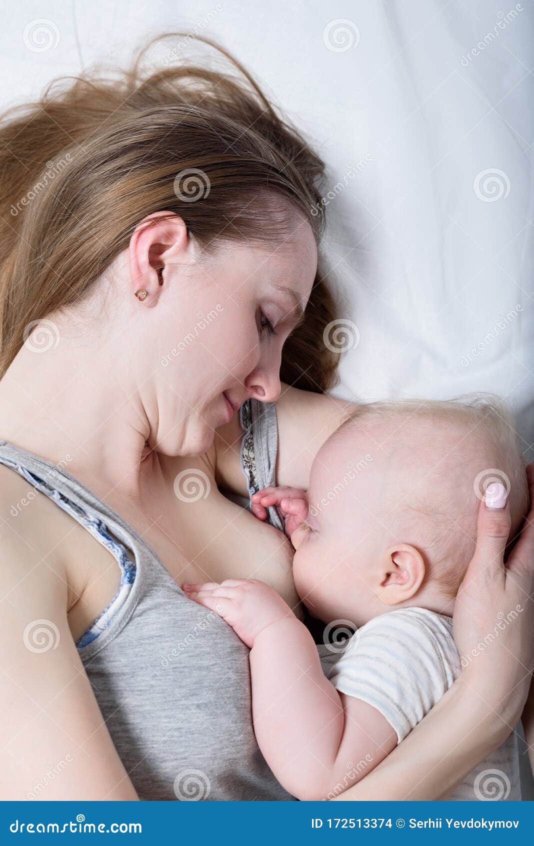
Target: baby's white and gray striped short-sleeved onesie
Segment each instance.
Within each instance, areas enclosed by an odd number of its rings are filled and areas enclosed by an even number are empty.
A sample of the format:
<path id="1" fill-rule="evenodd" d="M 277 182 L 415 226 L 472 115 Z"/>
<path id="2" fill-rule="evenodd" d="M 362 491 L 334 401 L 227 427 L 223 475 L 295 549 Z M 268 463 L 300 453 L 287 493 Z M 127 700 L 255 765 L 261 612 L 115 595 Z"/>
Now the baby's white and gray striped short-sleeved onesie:
<path id="1" fill-rule="evenodd" d="M 376 708 L 401 743 L 450 688 L 460 670 L 452 619 L 425 608 L 400 608 L 358 629 L 327 677 L 341 693 Z M 458 743 L 462 743 L 461 737 Z M 447 797 L 455 801 L 520 798 L 515 731 Z"/>

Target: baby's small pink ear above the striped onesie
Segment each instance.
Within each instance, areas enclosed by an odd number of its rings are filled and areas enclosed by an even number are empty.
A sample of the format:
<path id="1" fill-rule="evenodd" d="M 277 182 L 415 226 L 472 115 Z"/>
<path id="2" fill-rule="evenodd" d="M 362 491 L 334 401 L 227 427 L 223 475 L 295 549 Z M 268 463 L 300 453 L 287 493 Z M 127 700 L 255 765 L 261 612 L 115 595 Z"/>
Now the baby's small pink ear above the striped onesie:
<path id="1" fill-rule="evenodd" d="M 385 605 L 398 605 L 415 596 L 425 576 L 422 554 L 407 543 L 384 550 L 380 563 L 378 596 Z"/>

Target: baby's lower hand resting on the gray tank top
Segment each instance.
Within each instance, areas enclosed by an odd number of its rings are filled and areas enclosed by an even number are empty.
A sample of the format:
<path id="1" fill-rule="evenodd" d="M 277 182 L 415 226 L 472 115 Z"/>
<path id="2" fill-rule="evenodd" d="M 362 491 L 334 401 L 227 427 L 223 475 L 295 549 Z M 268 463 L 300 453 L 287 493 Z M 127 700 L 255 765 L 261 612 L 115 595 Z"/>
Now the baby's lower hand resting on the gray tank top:
<path id="1" fill-rule="evenodd" d="M 256 579 L 226 579 L 204 585 L 182 585 L 189 599 L 219 614 L 250 649 L 262 629 L 286 617 L 292 609 L 269 585 Z"/>

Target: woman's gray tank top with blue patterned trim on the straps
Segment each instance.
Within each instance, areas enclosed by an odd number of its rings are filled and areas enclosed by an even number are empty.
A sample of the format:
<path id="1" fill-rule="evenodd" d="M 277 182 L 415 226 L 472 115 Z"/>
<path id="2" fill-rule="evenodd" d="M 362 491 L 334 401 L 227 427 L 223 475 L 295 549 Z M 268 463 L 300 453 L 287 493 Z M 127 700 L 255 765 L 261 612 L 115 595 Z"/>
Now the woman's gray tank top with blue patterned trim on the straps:
<path id="1" fill-rule="evenodd" d="M 275 482 L 275 406 L 248 401 L 241 420 L 253 492 Z M 256 744 L 248 648 L 237 634 L 190 602 L 143 538 L 66 470 L 5 440 L 0 463 L 77 519 L 121 566 L 115 600 L 77 647 L 139 799 L 292 799 Z M 280 527 L 274 510 L 270 521 Z"/>

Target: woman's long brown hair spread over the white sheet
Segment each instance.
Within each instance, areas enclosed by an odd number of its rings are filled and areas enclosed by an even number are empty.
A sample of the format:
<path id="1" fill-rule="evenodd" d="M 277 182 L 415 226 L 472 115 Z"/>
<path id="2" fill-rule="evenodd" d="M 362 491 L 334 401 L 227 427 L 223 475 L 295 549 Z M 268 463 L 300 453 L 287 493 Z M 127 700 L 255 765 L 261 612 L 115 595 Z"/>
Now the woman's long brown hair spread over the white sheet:
<path id="1" fill-rule="evenodd" d="M 79 302 L 155 211 L 183 217 L 208 251 L 224 240 L 275 248 L 287 233 L 282 199 L 319 243 L 323 162 L 230 53 L 196 39 L 230 69 L 184 60 L 143 70 L 149 47 L 184 35 L 150 41 L 126 71 L 56 80 L 39 102 L 3 116 L 0 376 L 26 327 Z M 333 319 L 319 263 L 305 319 L 284 347 L 283 381 L 313 391 L 332 385 L 337 355 L 323 332 Z"/>

